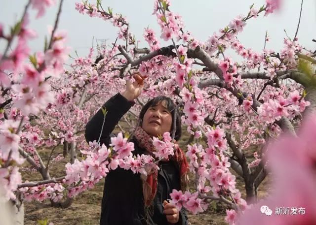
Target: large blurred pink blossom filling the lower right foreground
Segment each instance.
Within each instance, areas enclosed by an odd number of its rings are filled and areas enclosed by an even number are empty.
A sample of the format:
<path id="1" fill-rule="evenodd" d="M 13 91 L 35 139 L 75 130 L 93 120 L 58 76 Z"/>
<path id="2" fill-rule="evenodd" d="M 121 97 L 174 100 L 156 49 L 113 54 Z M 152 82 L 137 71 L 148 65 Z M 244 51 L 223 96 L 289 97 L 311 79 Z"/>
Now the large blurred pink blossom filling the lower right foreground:
<path id="1" fill-rule="evenodd" d="M 305 118 L 298 137 L 284 134 L 267 149 L 273 191 L 237 225 L 316 225 L 316 115 Z M 268 206 L 272 215 L 262 213 L 261 206 Z"/>

